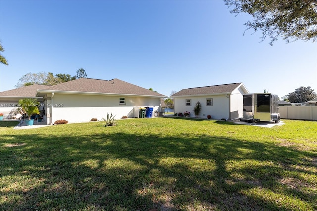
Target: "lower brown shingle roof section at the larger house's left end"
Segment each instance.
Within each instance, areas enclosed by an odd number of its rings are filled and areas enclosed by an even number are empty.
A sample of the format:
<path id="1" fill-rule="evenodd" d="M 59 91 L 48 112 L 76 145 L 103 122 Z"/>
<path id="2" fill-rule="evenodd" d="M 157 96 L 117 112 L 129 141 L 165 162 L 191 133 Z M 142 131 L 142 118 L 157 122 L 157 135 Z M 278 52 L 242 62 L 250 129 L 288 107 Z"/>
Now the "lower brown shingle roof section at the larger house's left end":
<path id="1" fill-rule="evenodd" d="M 49 85 L 30 85 L 26 87 L 20 87 L 17 89 L 11 89 L 7 91 L 0 92 L 0 96 L 10 96 L 10 97 L 35 97 L 38 89 L 50 89 Z"/>

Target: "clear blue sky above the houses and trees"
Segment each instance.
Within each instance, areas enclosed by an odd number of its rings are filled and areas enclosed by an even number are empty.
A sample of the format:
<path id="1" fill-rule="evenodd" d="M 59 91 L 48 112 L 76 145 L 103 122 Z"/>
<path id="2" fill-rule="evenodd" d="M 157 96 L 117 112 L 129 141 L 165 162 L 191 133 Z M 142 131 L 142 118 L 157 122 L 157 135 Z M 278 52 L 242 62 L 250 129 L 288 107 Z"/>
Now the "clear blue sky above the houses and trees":
<path id="1" fill-rule="evenodd" d="M 0 91 L 41 71 L 120 80 L 169 96 L 191 87 L 243 82 L 280 97 L 317 93 L 317 43 L 273 46 L 243 35 L 250 16 L 220 0 L 0 1 Z"/>

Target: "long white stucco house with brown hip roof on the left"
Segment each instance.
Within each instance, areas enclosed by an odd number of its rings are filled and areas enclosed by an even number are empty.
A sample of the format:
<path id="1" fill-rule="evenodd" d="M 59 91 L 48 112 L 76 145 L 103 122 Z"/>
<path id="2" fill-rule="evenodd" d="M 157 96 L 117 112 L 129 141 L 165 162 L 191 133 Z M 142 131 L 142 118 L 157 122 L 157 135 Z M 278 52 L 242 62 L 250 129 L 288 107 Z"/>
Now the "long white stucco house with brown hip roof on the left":
<path id="1" fill-rule="evenodd" d="M 31 89 L 33 94 L 22 94 Z M 116 119 L 139 117 L 140 107 L 153 107 L 154 113 L 160 109 L 160 99 L 166 96 L 119 79 L 80 78 L 53 86 L 32 85 L 0 92 L 0 103 L 26 97 L 38 98 L 40 109 L 45 109 L 46 123 L 53 124 L 59 119 L 69 123 L 100 120 L 107 113 L 116 115 Z"/>

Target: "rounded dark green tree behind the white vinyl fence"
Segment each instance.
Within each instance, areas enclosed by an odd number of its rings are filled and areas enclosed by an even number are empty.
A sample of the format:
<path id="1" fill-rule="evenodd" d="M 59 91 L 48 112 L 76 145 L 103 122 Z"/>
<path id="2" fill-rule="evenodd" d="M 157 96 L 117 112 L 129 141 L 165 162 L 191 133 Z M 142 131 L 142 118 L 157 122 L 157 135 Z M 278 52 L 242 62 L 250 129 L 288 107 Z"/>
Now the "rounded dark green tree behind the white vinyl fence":
<path id="1" fill-rule="evenodd" d="M 301 103 L 315 99 L 316 93 L 311 87 L 300 87 L 295 89 L 294 92 L 288 93 L 285 97 L 287 97 L 291 103 Z"/>

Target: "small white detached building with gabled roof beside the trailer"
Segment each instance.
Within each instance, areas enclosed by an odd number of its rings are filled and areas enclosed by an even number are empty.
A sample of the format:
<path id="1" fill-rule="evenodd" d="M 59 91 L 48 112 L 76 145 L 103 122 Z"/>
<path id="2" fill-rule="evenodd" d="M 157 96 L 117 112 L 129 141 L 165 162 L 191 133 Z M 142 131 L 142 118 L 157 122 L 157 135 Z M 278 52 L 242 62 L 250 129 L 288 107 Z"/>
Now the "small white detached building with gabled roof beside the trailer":
<path id="1" fill-rule="evenodd" d="M 183 89 L 171 97 L 175 113 L 188 111 L 190 117 L 195 117 L 193 110 L 199 101 L 199 118 L 211 115 L 212 119 L 237 119 L 242 118 L 243 95 L 248 93 L 243 83 L 232 83 Z"/>

